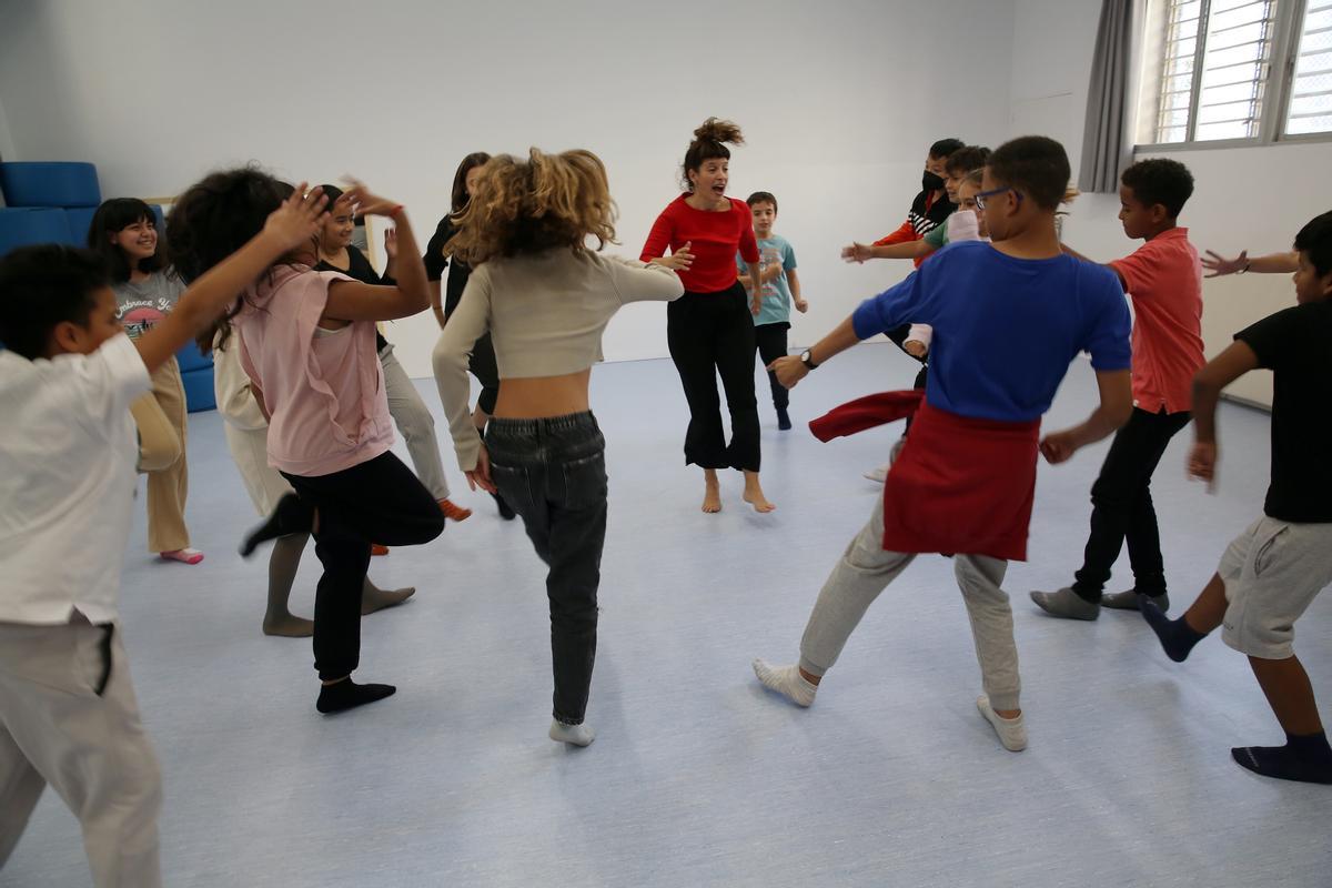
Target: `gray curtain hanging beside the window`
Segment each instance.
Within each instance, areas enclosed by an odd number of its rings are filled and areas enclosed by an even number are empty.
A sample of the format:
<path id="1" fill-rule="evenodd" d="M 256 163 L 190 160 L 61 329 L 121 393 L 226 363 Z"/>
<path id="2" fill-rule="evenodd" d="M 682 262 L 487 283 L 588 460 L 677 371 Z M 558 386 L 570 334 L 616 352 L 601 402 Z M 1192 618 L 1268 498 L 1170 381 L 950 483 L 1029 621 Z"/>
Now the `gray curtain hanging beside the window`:
<path id="1" fill-rule="evenodd" d="M 1131 84 L 1135 0 L 1103 0 L 1096 52 L 1087 91 L 1087 125 L 1078 188 L 1090 193 L 1119 190 L 1119 173 L 1134 160 Z"/>

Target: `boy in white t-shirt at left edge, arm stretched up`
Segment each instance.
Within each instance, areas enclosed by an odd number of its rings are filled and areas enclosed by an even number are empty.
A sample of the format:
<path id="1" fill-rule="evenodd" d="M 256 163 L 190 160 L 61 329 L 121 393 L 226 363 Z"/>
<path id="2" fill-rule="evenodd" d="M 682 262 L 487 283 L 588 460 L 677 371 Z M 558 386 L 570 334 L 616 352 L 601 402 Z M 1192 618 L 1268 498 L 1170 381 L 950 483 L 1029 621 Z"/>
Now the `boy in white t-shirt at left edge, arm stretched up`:
<path id="1" fill-rule="evenodd" d="M 0 260 L 0 867 L 51 783 L 99 888 L 161 884 L 161 775 L 120 640 L 120 570 L 149 374 L 318 229 L 304 185 L 264 232 L 137 341 L 101 258 L 59 245 Z"/>

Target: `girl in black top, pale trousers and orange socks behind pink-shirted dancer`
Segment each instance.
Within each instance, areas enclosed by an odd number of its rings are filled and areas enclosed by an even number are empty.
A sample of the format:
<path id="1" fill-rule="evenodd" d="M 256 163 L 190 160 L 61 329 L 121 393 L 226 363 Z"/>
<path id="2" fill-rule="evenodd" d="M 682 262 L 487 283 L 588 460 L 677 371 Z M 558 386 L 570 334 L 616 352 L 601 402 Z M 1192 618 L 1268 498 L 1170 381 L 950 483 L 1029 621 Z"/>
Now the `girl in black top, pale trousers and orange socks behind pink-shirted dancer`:
<path id="1" fill-rule="evenodd" d="M 324 230 L 320 232 L 320 261 L 314 270 L 340 272 L 372 286 L 392 282 L 393 264 L 398 253 L 396 229 L 390 228 L 384 233 L 384 252 L 388 253 L 389 265 L 381 277 L 370 265 L 370 260 L 365 258 L 365 254 L 352 244 L 354 208 L 345 201 L 338 202 L 338 198 L 342 197 L 342 189 L 334 185 L 324 185 L 322 188 L 333 209 L 324 224 Z M 384 366 L 384 389 L 389 395 L 389 413 L 408 445 L 408 454 L 412 457 L 417 478 L 438 501 L 445 518 L 466 521 L 472 517 L 472 510 L 449 499 L 449 482 L 444 477 L 444 463 L 440 459 L 440 441 L 434 435 L 434 418 L 416 386 L 412 385 L 406 370 L 393 357 L 393 345 L 378 330 L 374 332 L 374 345 L 380 353 L 380 363 Z M 386 551 L 388 549 L 384 546 L 374 547 L 376 554 Z"/>

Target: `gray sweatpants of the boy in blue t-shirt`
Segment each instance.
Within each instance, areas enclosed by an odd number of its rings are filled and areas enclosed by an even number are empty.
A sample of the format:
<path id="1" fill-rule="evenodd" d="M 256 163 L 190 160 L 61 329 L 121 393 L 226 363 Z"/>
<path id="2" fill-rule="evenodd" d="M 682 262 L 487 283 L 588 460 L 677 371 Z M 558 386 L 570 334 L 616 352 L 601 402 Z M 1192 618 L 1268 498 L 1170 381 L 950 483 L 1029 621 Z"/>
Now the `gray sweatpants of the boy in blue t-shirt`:
<path id="1" fill-rule="evenodd" d="M 810 675 L 823 675 L 832 668 L 870 604 L 914 559 L 912 554 L 884 551 L 883 498 L 878 497 L 868 523 L 846 547 L 823 583 L 801 639 L 801 668 Z M 1008 562 L 959 554 L 954 558 L 954 568 L 971 618 L 986 696 L 996 710 L 1020 708 L 1012 608 L 1008 594 L 999 588 Z"/>

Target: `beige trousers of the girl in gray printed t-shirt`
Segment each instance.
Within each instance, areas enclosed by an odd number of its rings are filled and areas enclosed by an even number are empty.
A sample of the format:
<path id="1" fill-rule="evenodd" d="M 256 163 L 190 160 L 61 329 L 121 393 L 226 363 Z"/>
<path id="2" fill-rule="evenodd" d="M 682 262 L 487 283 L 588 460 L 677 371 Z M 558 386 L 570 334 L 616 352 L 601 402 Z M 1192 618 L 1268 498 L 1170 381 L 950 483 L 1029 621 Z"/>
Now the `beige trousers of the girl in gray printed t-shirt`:
<path id="1" fill-rule="evenodd" d="M 132 405 L 139 426 L 139 470 L 148 473 L 148 551 L 169 553 L 189 546 L 185 497 L 185 386 L 172 358 L 153 373 L 153 390 Z"/>

